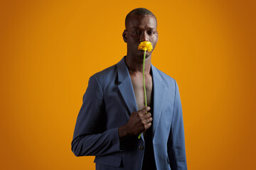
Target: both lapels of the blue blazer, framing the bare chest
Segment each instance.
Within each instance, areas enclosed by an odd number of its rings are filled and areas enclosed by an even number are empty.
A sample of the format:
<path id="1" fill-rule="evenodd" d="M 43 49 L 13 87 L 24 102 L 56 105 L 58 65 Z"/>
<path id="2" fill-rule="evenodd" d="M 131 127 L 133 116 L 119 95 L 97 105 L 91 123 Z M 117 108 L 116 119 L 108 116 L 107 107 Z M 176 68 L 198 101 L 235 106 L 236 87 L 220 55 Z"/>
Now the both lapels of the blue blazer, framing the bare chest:
<path id="1" fill-rule="evenodd" d="M 138 111 L 136 98 L 134 95 L 134 89 L 132 86 L 132 80 L 129 76 L 129 70 L 127 64 L 124 60 L 126 56 L 122 58 L 117 63 L 117 81 L 118 81 L 118 89 L 124 99 L 124 102 L 127 105 L 129 113 L 134 111 Z M 151 64 L 152 77 L 153 77 L 153 88 L 154 88 L 154 118 L 153 118 L 153 136 L 156 132 L 156 129 L 159 125 L 159 120 L 161 118 L 161 108 L 164 100 L 164 89 L 165 85 L 163 83 L 163 79 L 161 78 L 159 71 L 156 67 Z M 143 138 L 143 137 L 142 137 Z"/>

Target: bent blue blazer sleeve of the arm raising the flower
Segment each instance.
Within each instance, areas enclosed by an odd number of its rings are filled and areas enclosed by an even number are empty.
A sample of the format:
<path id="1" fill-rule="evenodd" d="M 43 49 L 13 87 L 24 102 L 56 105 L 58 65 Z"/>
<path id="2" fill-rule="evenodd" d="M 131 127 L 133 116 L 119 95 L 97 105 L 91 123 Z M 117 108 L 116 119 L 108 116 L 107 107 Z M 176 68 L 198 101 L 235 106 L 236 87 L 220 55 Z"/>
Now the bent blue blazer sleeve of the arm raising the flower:
<path id="1" fill-rule="evenodd" d="M 105 130 L 105 106 L 100 82 L 89 79 L 75 124 L 71 149 L 75 156 L 101 156 L 119 152 L 118 128 Z"/>

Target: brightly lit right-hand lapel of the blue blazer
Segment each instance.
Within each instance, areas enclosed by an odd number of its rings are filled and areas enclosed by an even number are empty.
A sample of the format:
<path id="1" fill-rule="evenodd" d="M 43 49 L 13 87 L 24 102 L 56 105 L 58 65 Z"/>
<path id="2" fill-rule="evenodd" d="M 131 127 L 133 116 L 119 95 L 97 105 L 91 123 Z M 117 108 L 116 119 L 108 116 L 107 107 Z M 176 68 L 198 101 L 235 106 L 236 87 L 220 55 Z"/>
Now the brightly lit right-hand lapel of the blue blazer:
<path id="1" fill-rule="evenodd" d="M 156 67 L 151 64 L 152 74 L 153 74 L 153 86 L 154 86 L 154 115 L 153 115 L 153 138 L 154 134 L 159 125 L 159 120 L 161 118 L 161 110 L 164 101 L 164 89 L 165 86 L 162 83 L 162 79 Z"/>

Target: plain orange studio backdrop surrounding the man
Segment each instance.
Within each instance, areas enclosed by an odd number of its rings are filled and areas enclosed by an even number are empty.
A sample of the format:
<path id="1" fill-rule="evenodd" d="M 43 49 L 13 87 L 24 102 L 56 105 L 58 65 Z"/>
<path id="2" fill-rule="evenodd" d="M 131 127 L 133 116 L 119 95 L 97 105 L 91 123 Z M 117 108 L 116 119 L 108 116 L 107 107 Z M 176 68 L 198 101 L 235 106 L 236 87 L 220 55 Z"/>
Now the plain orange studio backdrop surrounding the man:
<path id="1" fill-rule="evenodd" d="M 188 169 L 255 169 L 254 0 L 1 1 L 1 169 L 95 169 L 71 151 L 75 121 L 137 7 L 158 19 L 152 63 L 178 82 Z"/>

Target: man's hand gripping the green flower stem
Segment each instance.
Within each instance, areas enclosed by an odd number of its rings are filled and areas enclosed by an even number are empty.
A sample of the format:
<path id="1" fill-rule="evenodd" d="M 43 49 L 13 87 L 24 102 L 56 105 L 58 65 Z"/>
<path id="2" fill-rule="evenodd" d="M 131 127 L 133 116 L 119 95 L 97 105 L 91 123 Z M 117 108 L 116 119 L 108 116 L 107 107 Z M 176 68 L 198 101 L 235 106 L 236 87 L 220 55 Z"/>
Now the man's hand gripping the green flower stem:
<path id="1" fill-rule="evenodd" d="M 129 118 L 126 125 L 118 129 L 119 137 L 124 137 L 127 135 L 139 135 L 145 130 L 149 129 L 152 125 L 151 113 L 149 106 L 142 108 L 142 110 L 133 112 Z"/>

